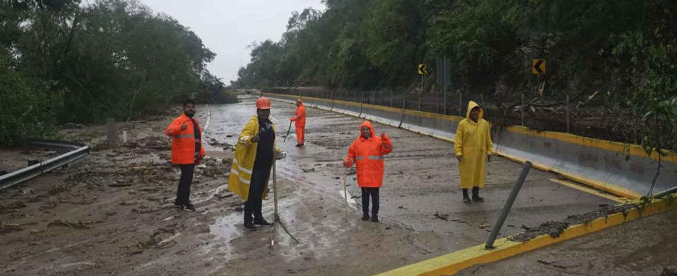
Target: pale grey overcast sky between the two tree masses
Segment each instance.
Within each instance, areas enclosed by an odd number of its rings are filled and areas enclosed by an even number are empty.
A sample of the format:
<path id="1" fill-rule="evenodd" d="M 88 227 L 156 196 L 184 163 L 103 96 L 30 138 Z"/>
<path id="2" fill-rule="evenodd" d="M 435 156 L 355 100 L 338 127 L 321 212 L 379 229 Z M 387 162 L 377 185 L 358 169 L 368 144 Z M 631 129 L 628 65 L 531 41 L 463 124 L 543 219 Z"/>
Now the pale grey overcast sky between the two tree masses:
<path id="1" fill-rule="evenodd" d="M 169 14 L 198 34 L 216 52 L 209 71 L 226 85 L 249 63 L 247 46 L 254 41 L 279 41 L 292 12 L 324 10 L 321 0 L 140 0 L 153 12 Z"/>

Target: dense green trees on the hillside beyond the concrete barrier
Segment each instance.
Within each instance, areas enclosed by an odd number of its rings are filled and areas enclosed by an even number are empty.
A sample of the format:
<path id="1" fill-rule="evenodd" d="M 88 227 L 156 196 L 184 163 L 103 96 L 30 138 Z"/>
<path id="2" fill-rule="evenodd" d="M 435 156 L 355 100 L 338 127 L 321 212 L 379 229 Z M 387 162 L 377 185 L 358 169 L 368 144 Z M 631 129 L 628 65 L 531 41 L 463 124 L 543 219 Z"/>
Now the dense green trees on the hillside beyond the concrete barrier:
<path id="1" fill-rule="evenodd" d="M 532 59 L 547 59 L 552 99 L 609 91 L 642 114 L 642 143 L 676 148 L 677 1 L 326 0 L 292 14 L 280 41 L 256 43 L 234 82 L 242 88 L 312 86 L 400 91 L 417 63 L 435 77 L 452 61 L 452 90 L 535 91 Z M 434 78 L 428 78 L 434 79 Z M 430 81 L 427 90 L 439 90 Z M 535 95 L 532 95 L 535 96 Z M 660 131 L 658 131 L 660 129 Z"/>

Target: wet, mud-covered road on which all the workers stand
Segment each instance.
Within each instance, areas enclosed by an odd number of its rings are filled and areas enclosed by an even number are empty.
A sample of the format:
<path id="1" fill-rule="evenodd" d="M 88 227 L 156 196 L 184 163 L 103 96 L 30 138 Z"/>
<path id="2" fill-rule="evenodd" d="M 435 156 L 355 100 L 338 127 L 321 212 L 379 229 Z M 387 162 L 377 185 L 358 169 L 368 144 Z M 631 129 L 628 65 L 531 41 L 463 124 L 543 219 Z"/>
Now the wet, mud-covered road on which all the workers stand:
<path id="1" fill-rule="evenodd" d="M 375 124 L 392 138 L 381 190 L 381 222 L 361 221 L 359 188 L 343 205 L 340 160 L 357 137 L 361 121 L 307 108 L 306 147 L 294 130 L 294 114 L 273 102 L 278 147 L 280 216 L 301 240 L 278 230 L 242 230 L 242 201 L 225 190 L 230 145 L 251 115 L 254 99 L 198 106 L 210 159 L 198 168 L 191 198 L 198 209 L 171 206 L 178 168 L 171 166 L 164 128 L 173 115 L 119 124 L 130 143 L 108 147 L 101 126 L 64 130 L 93 150 L 89 157 L 20 186 L 0 191 L 2 275 L 372 275 L 486 241 L 521 165 L 495 157 L 488 165 L 484 203 L 461 201 L 451 144 Z M 44 152 L 1 152 L 2 167 L 18 166 Z M 11 165 L 11 166 L 10 166 Z M 22 165 L 25 166 L 25 165 Z M 20 166 L 19 166 L 20 167 Z M 502 236 L 595 210 L 613 201 L 562 186 L 548 172 L 532 170 L 508 216 Z M 264 201 L 271 219 L 272 200 Z M 437 213 L 437 215 L 435 215 Z"/>

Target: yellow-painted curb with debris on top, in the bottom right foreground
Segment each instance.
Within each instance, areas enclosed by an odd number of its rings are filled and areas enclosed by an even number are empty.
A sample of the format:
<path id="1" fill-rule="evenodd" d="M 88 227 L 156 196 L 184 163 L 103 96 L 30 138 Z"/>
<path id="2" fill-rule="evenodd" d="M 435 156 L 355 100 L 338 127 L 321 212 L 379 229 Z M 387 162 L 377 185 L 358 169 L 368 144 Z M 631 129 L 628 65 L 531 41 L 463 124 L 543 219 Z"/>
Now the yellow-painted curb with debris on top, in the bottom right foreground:
<path id="1" fill-rule="evenodd" d="M 608 217 L 595 219 L 588 224 L 576 224 L 566 228 L 560 237 L 550 237 L 549 235 L 542 235 L 528 240 L 527 242 L 511 242 L 507 237 L 497 239 L 494 243 L 495 249 L 486 250 L 484 244 L 466 248 L 463 250 L 441 255 L 432 259 L 428 259 L 416 264 L 410 264 L 401 268 L 396 268 L 378 275 L 383 276 L 413 276 L 413 275 L 453 275 L 465 268 L 475 266 L 478 264 L 488 264 L 499 259 L 511 257 L 519 253 L 524 253 L 529 250 L 541 248 L 549 244 L 566 241 L 574 237 L 579 237 L 587 233 L 593 233 L 597 230 L 609 228 L 622 224 L 626 221 L 638 219 L 647 215 L 665 212 L 667 210 L 674 210 L 676 204 L 667 204 L 663 199 L 656 199 L 653 203 L 648 204 L 641 211 L 633 208 L 628 211 L 627 215 L 616 213 Z"/>

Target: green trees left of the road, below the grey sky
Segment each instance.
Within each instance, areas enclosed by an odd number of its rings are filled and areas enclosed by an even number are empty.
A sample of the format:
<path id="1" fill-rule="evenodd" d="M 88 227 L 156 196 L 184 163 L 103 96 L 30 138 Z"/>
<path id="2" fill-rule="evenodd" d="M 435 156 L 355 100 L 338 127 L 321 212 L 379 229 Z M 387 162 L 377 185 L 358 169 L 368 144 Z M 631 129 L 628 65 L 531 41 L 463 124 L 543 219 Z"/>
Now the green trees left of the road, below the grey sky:
<path id="1" fill-rule="evenodd" d="M 0 1 L 0 37 L 0 92 L 19 108 L 26 105 L 28 117 L 49 115 L 45 130 L 105 117 L 128 120 L 189 97 L 225 100 L 223 83 L 206 68 L 215 54 L 189 28 L 138 1 Z M 32 128 L 29 123 L 12 117 L 0 126 Z M 44 133 L 26 132 L 0 145 Z"/>

